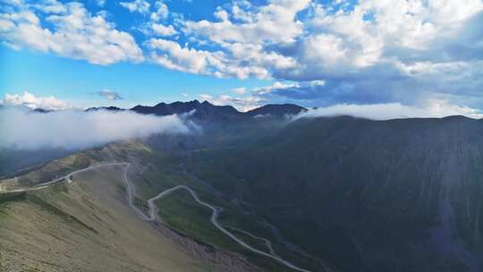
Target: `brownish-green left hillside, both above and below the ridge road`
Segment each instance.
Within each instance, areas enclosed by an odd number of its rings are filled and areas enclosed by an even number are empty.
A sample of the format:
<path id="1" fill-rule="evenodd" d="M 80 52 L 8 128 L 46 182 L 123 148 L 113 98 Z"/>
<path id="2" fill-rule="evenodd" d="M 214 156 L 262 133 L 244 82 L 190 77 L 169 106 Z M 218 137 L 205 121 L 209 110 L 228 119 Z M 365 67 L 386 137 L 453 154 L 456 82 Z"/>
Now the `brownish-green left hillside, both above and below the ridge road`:
<path id="1" fill-rule="evenodd" d="M 17 186 L 99 162 L 130 161 L 133 174 L 156 159 L 165 157 L 139 142 L 116 143 L 52 161 Z M 170 175 L 169 166 L 150 167 Z M 74 175 L 73 183 L 0 194 L 0 271 L 258 270 L 241 255 L 140 219 L 127 204 L 122 173 L 122 166 L 104 166 Z"/>

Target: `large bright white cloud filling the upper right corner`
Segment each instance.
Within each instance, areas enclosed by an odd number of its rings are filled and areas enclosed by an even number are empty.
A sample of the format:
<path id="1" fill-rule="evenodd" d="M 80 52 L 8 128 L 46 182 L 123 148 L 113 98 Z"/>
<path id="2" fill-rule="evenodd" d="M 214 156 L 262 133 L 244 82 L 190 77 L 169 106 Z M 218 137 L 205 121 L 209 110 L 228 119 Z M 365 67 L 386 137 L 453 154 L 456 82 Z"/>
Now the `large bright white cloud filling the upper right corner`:
<path id="1" fill-rule="evenodd" d="M 481 11 L 480 0 L 366 0 L 350 12 L 315 4 L 313 18 L 305 21 L 309 35 L 301 36 L 293 49 L 301 69 L 288 73 L 292 79 L 308 73 L 317 78 L 350 74 L 378 63 L 405 63 L 411 50 L 437 50 L 438 38 L 457 39 L 466 20 Z"/>

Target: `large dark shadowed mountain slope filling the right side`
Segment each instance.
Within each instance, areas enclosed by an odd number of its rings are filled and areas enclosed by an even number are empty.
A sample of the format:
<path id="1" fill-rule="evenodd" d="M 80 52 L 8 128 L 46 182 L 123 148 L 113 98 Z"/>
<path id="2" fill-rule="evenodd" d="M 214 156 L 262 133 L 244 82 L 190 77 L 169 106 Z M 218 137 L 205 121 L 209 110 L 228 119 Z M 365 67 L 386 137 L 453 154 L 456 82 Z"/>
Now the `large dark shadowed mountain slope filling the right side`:
<path id="1" fill-rule="evenodd" d="M 343 271 L 483 268 L 483 122 L 302 119 L 191 170 Z"/>

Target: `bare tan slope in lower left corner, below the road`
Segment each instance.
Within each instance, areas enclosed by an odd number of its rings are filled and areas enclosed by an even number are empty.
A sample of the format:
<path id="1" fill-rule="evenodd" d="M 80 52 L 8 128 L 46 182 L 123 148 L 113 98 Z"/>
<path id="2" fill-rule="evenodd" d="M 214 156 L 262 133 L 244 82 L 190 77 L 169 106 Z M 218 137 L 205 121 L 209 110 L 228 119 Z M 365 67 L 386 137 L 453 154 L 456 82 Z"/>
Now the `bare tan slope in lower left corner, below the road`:
<path id="1" fill-rule="evenodd" d="M 119 176 L 0 200 L 0 271 L 210 271 L 126 207 Z"/>

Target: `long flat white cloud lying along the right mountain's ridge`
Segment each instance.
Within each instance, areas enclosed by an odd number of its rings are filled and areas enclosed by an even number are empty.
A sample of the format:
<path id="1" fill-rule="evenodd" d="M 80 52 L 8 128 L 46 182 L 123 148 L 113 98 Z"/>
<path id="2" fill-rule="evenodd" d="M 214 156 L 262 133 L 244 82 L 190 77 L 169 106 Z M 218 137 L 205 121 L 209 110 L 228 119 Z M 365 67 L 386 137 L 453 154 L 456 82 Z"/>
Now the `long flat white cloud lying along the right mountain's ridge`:
<path id="1" fill-rule="evenodd" d="M 429 118 L 449 115 L 464 115 L 470 118 L 483 118 L 483 112 L 468 106 L 456 106 L 444 100 L 430 100 L 422 106 L 408 106 L 401 103 L 386 104 L 338 104 L 319 107 L 296 115 L 294 119 L 316 118 L 326 116 L 349 115 L 372 120 L 388 120 L 398 118 Z"/>

